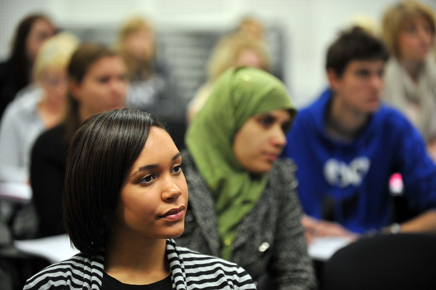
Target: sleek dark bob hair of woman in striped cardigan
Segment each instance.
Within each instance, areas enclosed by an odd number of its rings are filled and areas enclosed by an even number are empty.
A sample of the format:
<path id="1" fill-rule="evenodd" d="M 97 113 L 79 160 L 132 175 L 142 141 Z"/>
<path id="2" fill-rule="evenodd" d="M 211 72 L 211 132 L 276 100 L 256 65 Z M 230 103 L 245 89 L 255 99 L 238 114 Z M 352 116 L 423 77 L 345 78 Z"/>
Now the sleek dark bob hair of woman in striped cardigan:
<path id="1" fill-rule="evenodd" d="M 63 209 L 71 243 L 82 253 L 96 255 L 106 245 L 121 186 L 152 126 L 164 129 L 149 113 L 116 109 L 89 117 L 75 133 Z"/>

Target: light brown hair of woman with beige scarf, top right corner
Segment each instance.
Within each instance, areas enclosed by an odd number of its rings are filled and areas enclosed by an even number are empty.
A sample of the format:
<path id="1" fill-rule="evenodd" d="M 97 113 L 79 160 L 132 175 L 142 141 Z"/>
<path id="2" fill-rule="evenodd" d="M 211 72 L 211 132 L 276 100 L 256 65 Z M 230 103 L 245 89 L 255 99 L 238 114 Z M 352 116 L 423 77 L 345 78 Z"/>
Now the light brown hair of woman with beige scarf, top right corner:
<path id="1" fill-rule="evenodd" d="M 405 0 L 388 8 L 383 16 L 383 37 L 388 50 L 399 57 L 398 36 L 405 24 L 419 17 L 428 21 L 435 35 L 435 13 L 424 3 L 415 0 Z"/>

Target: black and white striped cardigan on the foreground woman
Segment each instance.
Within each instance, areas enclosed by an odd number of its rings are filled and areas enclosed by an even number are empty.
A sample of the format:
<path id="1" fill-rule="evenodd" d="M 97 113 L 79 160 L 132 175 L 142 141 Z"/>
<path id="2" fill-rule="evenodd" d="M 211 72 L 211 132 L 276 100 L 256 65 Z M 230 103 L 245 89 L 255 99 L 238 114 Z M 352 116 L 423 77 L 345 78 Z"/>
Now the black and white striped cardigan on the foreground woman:
<path id="1" fill-rule="evenodd" d="M 48 266 L 28 279 L 24 290 L 101 289 L 103 255 L 79 253 Z M 236 264 L 179 247 L 172 239 L 167 240 L 167 257 L 173 289 L 256 289 L 250 275 Z"/>

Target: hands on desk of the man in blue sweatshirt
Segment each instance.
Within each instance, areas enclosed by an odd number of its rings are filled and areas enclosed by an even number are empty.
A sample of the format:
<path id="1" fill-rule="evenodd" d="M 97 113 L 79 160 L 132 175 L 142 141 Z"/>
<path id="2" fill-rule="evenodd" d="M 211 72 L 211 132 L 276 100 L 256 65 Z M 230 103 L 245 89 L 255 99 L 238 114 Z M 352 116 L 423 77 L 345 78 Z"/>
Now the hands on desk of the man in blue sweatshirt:
<path id="1" fill-rule="evenodd" d="M 351 241 L 358 239 L 358 234 L 349 231 L 339 223 L 328 222 L 322 219 L 315 219 L 311 216 L 303 215 L 301 223 L 306 228 L 304 236 L 307 244 L 310 244 L 315 237 L 319 236 L 341 236 L 350 238 Z"/>

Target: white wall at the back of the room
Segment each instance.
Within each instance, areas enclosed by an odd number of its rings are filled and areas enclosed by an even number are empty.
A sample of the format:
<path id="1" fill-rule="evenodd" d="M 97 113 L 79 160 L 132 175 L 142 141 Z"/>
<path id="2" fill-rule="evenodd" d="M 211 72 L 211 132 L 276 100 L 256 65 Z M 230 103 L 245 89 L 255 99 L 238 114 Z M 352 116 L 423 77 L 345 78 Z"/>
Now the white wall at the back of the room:
<path id="1" fill-rule="evenodd" d="M 283 25 L 288 35 L 285 82 L 298 106 L 326 85 L 328 44 L 351 17 L 379 20 L 395 0 L 0 0 L 0 59 L 7 57 L 17 23 L 27 13 L 43 11 L 60 26 L 119 25 L 132 13 L 150 17 L 157 29 L 231 28 L 252 14 Z M 436 0 L 423 0 L 436 10 Z"/>

